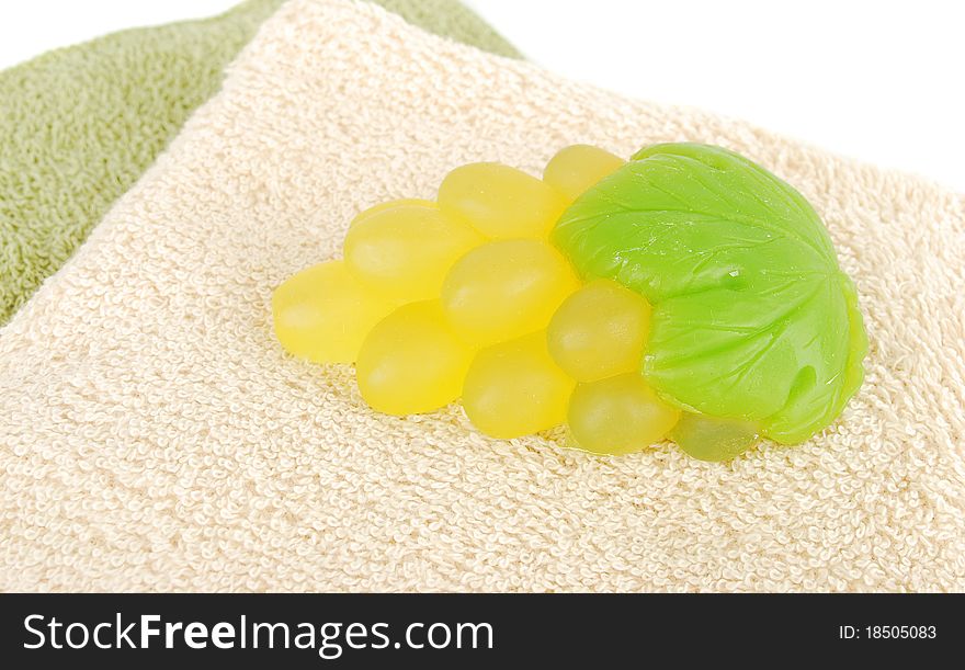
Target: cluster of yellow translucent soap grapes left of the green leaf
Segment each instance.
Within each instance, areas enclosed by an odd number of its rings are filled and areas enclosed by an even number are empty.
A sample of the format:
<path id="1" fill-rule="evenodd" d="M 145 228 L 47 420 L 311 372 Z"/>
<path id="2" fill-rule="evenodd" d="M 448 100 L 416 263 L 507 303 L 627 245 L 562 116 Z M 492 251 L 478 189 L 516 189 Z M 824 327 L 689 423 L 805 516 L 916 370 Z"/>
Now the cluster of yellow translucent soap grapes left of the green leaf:
<path id="1" fill-rule="evenodd" d="M 446 175 L 436 202 L 363 212 L 343 260 L 275 291 L 279 340 L 311 361 L 354 363 L 381 412 L 462 398 L 495 438 L 567 423 L 571 445 L 595 453 L 661 440 L 680 412 L 639 374 L 649 305 L 610 280 L 582 284 L 548 241 L 563 211 L 621 164 L 586 145 L 559 151 L 542 180 L 473 163 Z"/>

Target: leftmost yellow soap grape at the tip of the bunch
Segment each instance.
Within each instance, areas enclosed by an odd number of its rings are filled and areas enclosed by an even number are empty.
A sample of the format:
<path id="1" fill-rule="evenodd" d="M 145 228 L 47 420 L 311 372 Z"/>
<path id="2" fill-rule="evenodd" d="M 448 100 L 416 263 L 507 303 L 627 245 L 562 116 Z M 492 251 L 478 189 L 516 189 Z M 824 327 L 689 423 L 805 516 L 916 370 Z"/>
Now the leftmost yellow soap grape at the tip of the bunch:
<path id="1" fill-rule="evenodd" d="M 342 261 L 303 270 L 272 296 L 282 347 L 316 363 L 352 363 L 366 333 L 391 304 L 353 277 Z"/>

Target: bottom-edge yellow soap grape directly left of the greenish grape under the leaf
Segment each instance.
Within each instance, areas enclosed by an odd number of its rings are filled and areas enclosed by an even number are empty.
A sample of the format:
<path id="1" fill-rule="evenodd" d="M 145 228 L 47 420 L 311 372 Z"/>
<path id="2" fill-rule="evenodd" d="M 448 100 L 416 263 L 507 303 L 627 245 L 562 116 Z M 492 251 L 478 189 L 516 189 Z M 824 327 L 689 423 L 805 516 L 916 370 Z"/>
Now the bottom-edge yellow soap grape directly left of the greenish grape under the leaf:
<path id="1" fill-rule="evenodd" d="M 627 454 L 659 442 L 680 418 L 639 373 L 580 384 L 569 400 L 567 421 L 580 448 Z"/>

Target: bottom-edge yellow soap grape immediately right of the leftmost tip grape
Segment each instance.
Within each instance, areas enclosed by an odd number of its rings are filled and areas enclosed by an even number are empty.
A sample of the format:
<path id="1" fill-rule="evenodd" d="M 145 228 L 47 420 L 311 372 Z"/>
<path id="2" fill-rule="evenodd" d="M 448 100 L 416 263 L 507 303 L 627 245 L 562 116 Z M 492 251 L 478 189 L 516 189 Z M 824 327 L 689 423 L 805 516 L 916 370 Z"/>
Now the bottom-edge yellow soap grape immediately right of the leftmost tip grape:
<path id="1" fill-rule="evenodd" d="M 376 411 L 416 415 L 459 397 L 472 355 L 446 323 L 439 300 L 410 303 L 365 338 L 355 378 L 362 398 Z"/>

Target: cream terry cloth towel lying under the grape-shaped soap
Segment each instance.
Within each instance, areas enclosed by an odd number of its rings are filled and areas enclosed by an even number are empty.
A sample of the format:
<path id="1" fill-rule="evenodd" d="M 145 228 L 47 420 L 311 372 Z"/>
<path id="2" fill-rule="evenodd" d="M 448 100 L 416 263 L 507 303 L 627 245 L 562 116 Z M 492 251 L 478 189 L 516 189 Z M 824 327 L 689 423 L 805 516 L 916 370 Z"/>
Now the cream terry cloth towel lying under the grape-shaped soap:
<path id="1" fill-rule="evenodd" d="M 470 161 L 674 140 L 799 188 L 856 281 L 867 378 L 802 447 L 490 440 L 458 407 L 377 415 L 272 334 L 272 289 L 364 207 Z M 292 0 L 0 332 L 0 588 L 962 590 L 963 283 L 961 195 Z"/>

